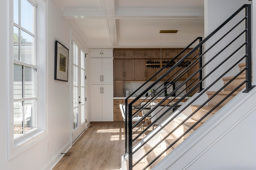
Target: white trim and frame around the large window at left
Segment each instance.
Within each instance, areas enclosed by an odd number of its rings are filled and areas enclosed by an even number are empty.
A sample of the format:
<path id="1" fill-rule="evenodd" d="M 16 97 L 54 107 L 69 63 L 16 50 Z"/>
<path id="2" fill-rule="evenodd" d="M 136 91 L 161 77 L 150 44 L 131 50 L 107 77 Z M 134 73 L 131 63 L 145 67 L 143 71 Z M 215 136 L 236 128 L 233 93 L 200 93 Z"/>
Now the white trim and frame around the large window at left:
<path id="1" fill-rule="evenodd" d="M 19 155 L 23 151 L 27 150 L 28 148 L 32 147 L 42 139 L 44 139 L 48 135 L 48 127 L 46 123 L 46 117 L 47 117 L 47 68 L 46 68 L 46 2 L 44 0 L 29 0 L 32 4 L 36 4 L 37 6 L 37 14 L 36 20 L 38 20 L 38 27 L 35 30 L 37 32 L 37 39 L 40 40 L 40 42 L 35 42 L 35 47 L 37 48 L 36 55 L 37 57 L 37 63 L 39 64 L 37 68 L 38 72 L 38 80 L 37 80 L 37 88 L 40 90 L 38 91 L 38 121 L 37 125 L 38 128 L 32 130 L 28 134 L 24 134 L 16 139 L 14 139 L 14 115 L 13 115 L 13 64 L 18 64 L 19 61 L 13 60 L 13 1 L 10 0 L 7 4 L 7 11 L 8 11 L 8 24 L 7 24 L 7 30 L 8 30 L 8 60 L 7 60 L 7 66 L 8 66 L 8 160 L 11 160 L 15 156 Z M 38 12 L 39 11 L 39 12 Z M 24 64 L 23 64 L 24 65 Z M 34 68 L 34 66 L 31 66 L 28 64 L 29 67 Z"/>

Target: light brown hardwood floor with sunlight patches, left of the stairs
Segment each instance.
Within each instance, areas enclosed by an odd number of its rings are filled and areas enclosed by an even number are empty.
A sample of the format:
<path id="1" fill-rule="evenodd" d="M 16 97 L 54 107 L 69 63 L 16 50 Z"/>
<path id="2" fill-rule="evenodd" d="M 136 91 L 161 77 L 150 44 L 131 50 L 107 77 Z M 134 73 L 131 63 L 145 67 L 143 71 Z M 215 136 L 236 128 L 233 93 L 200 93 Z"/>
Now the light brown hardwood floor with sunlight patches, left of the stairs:
<path id="1" fill-rule="evenodd" d="M 123 125 L 90 125 L 53 170 L 120 170 Z"/>

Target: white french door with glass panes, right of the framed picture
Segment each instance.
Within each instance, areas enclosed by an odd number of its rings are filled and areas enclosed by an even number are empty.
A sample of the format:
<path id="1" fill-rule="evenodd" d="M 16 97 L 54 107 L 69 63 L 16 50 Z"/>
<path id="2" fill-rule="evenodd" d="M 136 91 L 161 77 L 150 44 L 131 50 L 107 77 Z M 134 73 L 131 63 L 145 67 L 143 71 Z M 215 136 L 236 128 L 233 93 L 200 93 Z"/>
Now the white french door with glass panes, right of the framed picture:
<path id="1" fill-rule="evenodd" d="M 72 143 L 86 129 L 85 53 L 73 41 Z"/>

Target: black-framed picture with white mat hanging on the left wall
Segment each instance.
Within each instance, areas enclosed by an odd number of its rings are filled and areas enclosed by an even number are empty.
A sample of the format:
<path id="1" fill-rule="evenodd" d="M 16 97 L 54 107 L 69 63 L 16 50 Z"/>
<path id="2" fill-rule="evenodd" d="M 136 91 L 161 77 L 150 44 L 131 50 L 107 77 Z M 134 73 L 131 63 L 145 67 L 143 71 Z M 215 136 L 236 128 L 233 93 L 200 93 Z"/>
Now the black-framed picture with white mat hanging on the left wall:
<path id="1" fill-rule="evenodd" d="M 55 41 L 54 80 L 68 82 L 68 49 Z"/>

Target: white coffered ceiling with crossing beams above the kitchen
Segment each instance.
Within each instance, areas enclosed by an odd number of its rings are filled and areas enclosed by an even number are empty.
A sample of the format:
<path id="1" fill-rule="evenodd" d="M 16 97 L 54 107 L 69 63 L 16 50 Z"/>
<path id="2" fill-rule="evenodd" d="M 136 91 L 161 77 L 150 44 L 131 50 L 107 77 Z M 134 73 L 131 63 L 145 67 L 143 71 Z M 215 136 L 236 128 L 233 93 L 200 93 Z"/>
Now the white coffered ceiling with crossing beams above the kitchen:
<path id="1" fill-rule="evenodd" d="M 185 47 L 204 35 L 204 0 L 56 2 L 63 16 L 78 26 L 88 48 Z"/>

